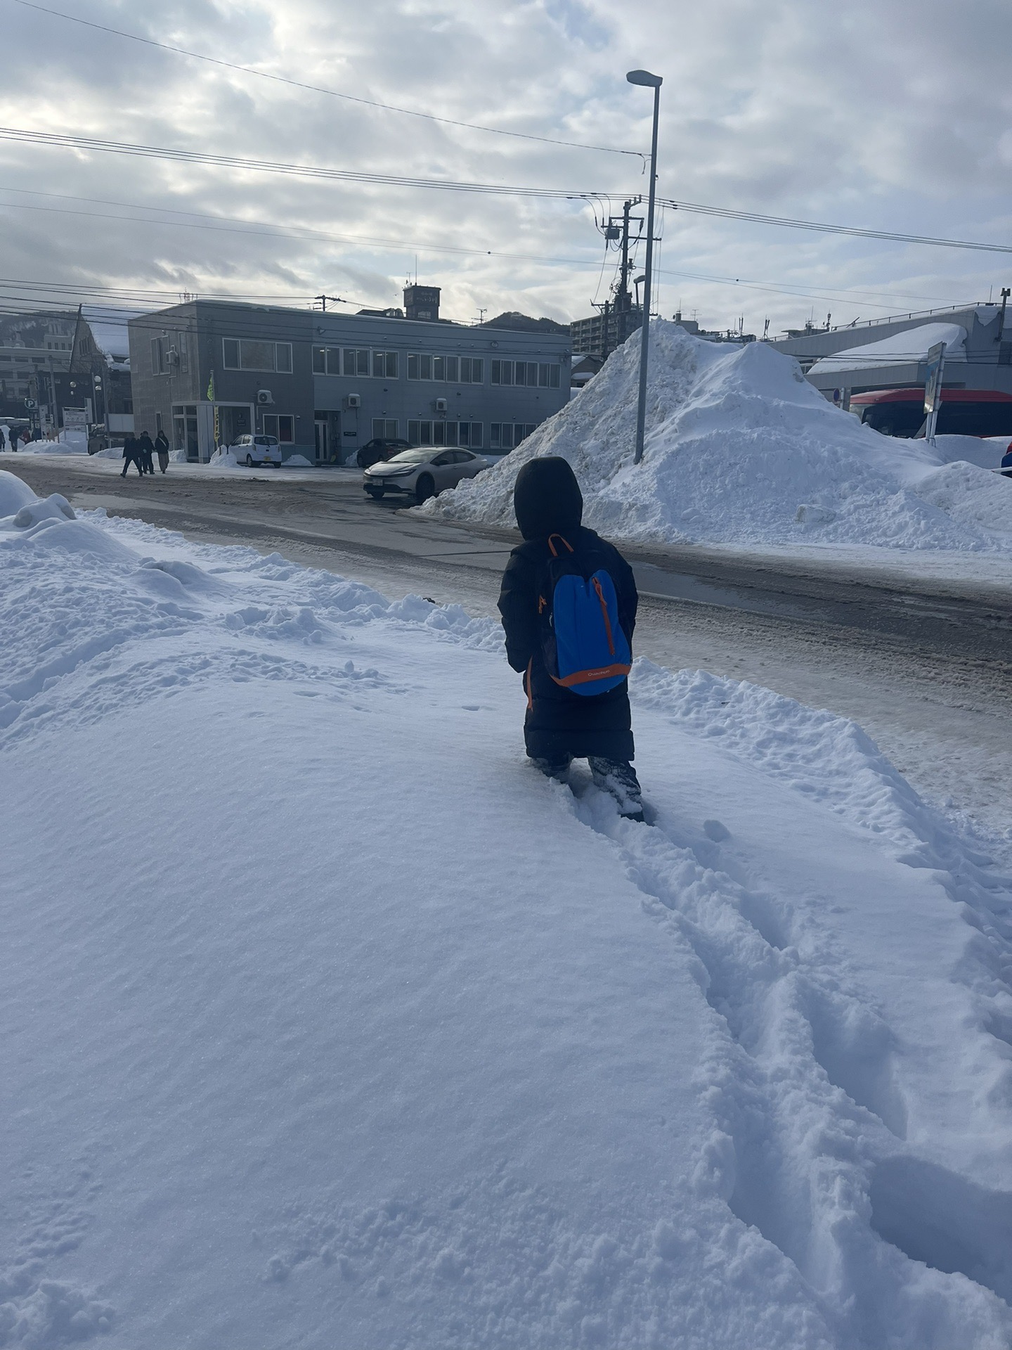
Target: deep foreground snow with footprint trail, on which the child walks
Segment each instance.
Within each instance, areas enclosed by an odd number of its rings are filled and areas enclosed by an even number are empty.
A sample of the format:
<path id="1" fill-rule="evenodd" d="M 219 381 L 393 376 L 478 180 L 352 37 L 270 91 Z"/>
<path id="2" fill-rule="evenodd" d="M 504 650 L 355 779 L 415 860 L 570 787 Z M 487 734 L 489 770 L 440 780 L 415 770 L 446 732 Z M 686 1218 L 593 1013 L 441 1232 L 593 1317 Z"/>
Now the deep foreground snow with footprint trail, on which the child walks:
<path id="1" fill-rule="evenodd" d="M 850 722 L 0 474 L 0 1343 L 1000 1350 L 1012 884 Z"/>

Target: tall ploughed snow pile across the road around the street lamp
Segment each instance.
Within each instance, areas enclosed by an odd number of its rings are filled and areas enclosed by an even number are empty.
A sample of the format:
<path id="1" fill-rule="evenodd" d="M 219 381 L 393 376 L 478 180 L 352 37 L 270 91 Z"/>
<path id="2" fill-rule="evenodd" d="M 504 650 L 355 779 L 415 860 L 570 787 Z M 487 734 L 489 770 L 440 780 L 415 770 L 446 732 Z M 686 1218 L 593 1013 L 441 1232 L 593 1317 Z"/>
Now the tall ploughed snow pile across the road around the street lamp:
<path id="1" fill-rule="evenodd" d="M 633 335 L 507 459 L 418 509 L 511 525 L 519 467 L 563 455 L 580 481 L 586 524 L 613 539 L 1012 551 L 1012 482 L 970 466 L 962 489 L 990 502 L 970 518 L 938 505 L 934 489 L 922 495 L 942 454 L 862 427 L 807 383 L 793 358 L 764 343 L 703 342 L 664 321 L 650 333 L 641 464 Z"/>

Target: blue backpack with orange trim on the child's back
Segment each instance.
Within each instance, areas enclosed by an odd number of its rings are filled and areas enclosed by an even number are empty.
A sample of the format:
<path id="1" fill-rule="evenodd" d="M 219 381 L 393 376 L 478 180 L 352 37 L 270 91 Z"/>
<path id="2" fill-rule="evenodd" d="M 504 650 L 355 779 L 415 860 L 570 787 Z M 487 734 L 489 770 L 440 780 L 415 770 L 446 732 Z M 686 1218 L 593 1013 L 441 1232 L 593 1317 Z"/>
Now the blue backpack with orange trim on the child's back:
<path id="1" fill-rule="evenodd" d="M 565 552 L 556 548 L 556 540 Z M 605 559 L 588 549 L 578 558 L 561 535 L 551 535 L 552 552 L 538 589 L 541 649 L 556 684 L 573 694 L 605 694 L 631 668 L 629 639 L 618 621 L 618 597 Z"/>

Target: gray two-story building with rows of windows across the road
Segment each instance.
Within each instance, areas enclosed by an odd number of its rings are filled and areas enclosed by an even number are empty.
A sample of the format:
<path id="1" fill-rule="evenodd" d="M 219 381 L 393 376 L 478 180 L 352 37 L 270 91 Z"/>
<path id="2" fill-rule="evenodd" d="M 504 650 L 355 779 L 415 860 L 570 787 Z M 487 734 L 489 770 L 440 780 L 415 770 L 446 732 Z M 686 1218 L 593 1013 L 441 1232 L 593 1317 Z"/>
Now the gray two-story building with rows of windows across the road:
<path id="1" fill-rule="evenodd" d="M 405 309 L 420 317 L 193 300 L 134 319 L 136 428 L 193 460 L 255 432 L 347 463 L 376 436 L 503 452 L 567 402 L 568 335 L 440 320 L 433 286 Z"/>

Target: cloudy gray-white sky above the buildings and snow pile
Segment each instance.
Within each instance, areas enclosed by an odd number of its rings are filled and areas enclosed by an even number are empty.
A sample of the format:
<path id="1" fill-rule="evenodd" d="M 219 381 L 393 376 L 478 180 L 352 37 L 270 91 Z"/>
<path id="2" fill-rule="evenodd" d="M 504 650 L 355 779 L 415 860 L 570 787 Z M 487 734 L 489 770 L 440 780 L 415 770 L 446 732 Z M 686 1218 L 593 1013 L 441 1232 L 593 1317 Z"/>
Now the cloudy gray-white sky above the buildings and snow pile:
<path id="1" fill-rule="evenodd" d="M 649 146 L 658 192 L 818 221 L 1012 244 L 1008 0 L 47 0 L 74 19 L 455 122 Z M 313 180 L 24 143 L 0 134 L 0 277 L 401 302 L 569 320 L 605 300 L 596 228 L 645 192 L 636 155 L 468 130 L 294 88 L 0 0 L 0 123 L 182 151 L 484 185 L 517 197 Z M 654 305 L 770 333 L 963 300 L 1012 255 L 857 240 L 665 211 Z"/>

